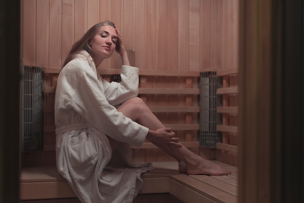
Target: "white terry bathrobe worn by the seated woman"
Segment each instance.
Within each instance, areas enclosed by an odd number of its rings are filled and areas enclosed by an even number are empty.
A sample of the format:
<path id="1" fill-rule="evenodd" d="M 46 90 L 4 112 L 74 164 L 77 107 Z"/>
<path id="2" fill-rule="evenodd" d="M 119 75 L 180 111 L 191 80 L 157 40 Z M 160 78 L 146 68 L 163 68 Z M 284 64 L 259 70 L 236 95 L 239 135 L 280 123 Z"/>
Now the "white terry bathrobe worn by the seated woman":
<path id="1" fill-rule="evenodd" d="M 151 163 L 131 163 L 125 144 L 112 154 L 106 137 L 139 147 L 149 130 L 114 107 L 138 92 L 138 68 L 122 66 L 120 76 L 120 83 L 105 81 L 86 51 L 58 76 L 56 164 L 83 203 L 131 203 L 142 186 L 140 174 L 152 170 Z"/>

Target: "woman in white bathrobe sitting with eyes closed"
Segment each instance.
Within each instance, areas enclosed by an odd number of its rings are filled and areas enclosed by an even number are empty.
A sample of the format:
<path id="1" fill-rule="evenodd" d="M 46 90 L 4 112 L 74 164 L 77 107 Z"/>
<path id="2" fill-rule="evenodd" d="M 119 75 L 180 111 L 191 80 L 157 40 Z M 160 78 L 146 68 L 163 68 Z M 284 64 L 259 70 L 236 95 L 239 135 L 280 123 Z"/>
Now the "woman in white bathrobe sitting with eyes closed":
<path id="1" fill-rule="evenodd" d="M 114 51 L 123 64 L 120 83 L 108 83 L 96 69 Z M 142 186 L 140 174 L 152 165 L 131 163 L 125 143 L 139 147 L 145 138 L 173 156 L 181 172 L 230 173 L 178 142 L 137 91 L 138 68 L 130 66 L 113 22 L 94 25 L 73 45 L 56 87 L 56 161 L 80 201 L 131 203 Z"/>

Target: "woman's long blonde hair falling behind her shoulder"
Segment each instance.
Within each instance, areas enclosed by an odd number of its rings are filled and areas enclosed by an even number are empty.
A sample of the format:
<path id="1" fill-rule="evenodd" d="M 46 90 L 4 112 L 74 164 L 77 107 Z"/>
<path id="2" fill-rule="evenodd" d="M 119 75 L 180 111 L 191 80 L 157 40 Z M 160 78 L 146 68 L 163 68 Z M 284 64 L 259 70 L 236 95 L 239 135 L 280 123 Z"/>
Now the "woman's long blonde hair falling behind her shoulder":
<path id="1" fill-rule="evenodd" d="M 114 22 L 111 22 L 109 20 L 105 20 L 95 24 L 83 35 L 83 37 L 80 40 L 78 40 L 73 44 L 72 49 L 71 51 L 69 51 L 65 63 L 63 64 L 63 67 L 65 67 L 68 64 L 68 62 L 73 60 L 75 58 L 75 55 L 79 51 L 85 50 L 92 56 L 92 49 L 89 46 L 89 41 L 93 39 L 93 37 L 98 33 L 99 29 L 104 25 L 110 25 L 115 28 Z"/>

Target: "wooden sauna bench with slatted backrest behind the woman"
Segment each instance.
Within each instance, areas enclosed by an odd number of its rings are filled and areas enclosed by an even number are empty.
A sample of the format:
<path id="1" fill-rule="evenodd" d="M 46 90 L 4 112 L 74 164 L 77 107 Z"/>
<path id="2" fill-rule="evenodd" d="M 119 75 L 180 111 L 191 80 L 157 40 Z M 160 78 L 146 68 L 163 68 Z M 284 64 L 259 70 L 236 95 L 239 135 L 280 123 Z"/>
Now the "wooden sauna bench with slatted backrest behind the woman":
<path id="1" fill-rule="evenodd" d="M 61 203 L 79 202 L 54 165 L 54 92 L 60 69 L 45 68 L 43 151 L 45 154 L 39 153 L 37 157 L 41 160 L 45 155 L 45 160 L 49 164 L 22 166 L 20 197 L 24 203 L 51 203 L 54 199 L 56 202 L 60 200 Z M 118 77 L 120 69 L 99 69 L 99 73 L 106 80 L 113 81 Z M 167 127 L 171 127 L 179 135 L 183 145 L 198 154 L 200 153 L 197 141 L 198 113 L 200 112 L 199 79 L 200 72 L 198 71 L 140 70 L 139 72 L 139 97 Z M 149 141 L 145 141 L 140 148 L 134 146 L 131 148 L 134 154 L 133 161 L 150 161 L 154 166 L 154 170 L 142 174 L 144 185 L 135 203 L 199 203 L 202 201 L 236 203 L 236 167 L 214 161 L 233 173 L 229 176 L 186 175 L 178 172 L 177 162 L 172 162 L 173 158 L 170 160 L 164 152 L 158 152 L 157 147 Z M 31 154 L 23 154 L 23 158 L 26 159 L 27 156 Z"/>

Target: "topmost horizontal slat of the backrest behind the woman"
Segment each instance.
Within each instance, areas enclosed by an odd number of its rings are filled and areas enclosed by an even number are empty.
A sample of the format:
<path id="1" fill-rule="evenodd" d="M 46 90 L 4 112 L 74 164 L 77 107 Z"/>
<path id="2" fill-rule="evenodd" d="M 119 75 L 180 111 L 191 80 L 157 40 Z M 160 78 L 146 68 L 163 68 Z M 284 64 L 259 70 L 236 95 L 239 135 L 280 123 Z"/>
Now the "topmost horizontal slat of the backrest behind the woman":
<path id="1" fill-rule="evenodd" d="M 46 67 L 45 73 L 59 73 L 62 68 Z M 121 69 L 98 69 L 101 75 L 119 75 Z M 200 71 L 178 71 L 178 70 L 139 70 L 139 75 L 145 76 L 172 76 L 172 77 L 200 77 Z"/>

